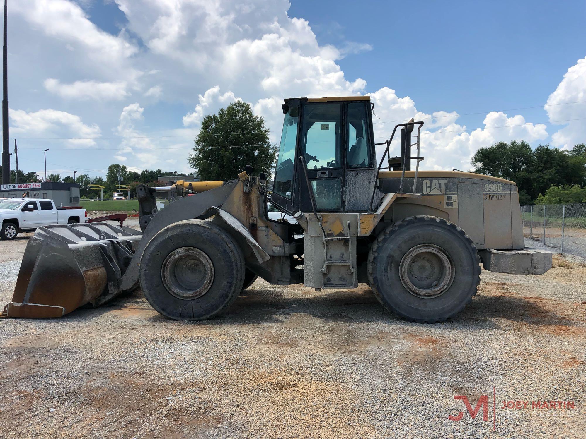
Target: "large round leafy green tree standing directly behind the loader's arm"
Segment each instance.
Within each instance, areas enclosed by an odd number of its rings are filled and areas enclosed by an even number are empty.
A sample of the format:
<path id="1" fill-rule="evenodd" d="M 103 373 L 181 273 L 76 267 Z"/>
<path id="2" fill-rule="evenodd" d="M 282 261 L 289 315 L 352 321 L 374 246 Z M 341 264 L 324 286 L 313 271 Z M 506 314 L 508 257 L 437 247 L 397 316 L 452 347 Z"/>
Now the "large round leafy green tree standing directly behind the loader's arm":
<path id="1" fill-rule="evenodd" d="M 188 162 L 204 181 L 235 179 L 247 164 L 270 177 L 276 153 L 264 119 L 247 102 L 236 101 L 203 118 Z"/>

